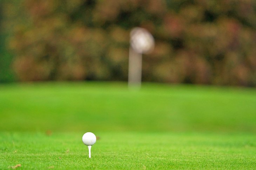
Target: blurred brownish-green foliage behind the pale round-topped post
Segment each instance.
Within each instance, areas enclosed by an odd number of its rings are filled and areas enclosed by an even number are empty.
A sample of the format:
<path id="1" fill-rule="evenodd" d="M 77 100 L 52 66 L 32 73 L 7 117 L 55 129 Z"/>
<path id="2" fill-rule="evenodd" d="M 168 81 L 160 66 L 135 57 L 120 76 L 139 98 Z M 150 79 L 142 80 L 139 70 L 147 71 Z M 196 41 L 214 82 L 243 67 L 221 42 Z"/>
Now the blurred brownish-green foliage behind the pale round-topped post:
<path id="1" fill-rule="evenodd" d="M 142 81 L 256 86 L 254 0 L 0 2 L 0 82 L 127 81 L 142 27 L 156 41 Z"/>

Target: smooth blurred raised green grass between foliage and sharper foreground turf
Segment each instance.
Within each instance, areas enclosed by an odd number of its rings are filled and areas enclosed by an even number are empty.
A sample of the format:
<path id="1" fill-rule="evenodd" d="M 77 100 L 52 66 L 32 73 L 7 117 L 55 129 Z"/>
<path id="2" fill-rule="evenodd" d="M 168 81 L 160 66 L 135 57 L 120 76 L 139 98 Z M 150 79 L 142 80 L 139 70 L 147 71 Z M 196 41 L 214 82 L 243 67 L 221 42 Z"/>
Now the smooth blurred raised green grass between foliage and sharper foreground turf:
<path id="1" fill-rule="evenodd" d="M 0 85 L 2 131 L 256 132 L 256 89 L 124 83 Z"/>

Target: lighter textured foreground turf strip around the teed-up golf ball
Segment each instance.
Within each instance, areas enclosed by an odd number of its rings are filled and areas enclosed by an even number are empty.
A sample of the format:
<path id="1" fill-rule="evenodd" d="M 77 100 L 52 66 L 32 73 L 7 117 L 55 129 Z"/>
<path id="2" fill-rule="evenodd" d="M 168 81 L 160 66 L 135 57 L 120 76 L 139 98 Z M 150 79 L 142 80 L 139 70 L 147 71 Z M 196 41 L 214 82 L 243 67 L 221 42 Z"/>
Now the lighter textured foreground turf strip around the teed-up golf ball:
<path id="1" fill-rule="evenodd" d="M 88 158 L 82 133 L 1 133 L 7 169 L 254 169 L 256 136 L 205 133 L 97 133 Z"/>

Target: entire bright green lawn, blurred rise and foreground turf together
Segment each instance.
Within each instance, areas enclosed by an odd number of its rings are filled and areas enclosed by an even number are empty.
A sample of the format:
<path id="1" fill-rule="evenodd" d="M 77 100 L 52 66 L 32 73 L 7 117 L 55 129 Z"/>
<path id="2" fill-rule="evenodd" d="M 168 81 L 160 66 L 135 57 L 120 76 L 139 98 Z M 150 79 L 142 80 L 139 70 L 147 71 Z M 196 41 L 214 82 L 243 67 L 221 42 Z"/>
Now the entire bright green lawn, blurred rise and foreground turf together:
<path id="1" fill-rule="evenodd" d="M 98 137 L 92 158 L 85 132 Z M 256 89 L 0 84 L 0 169 L 255 169 Z"/>

